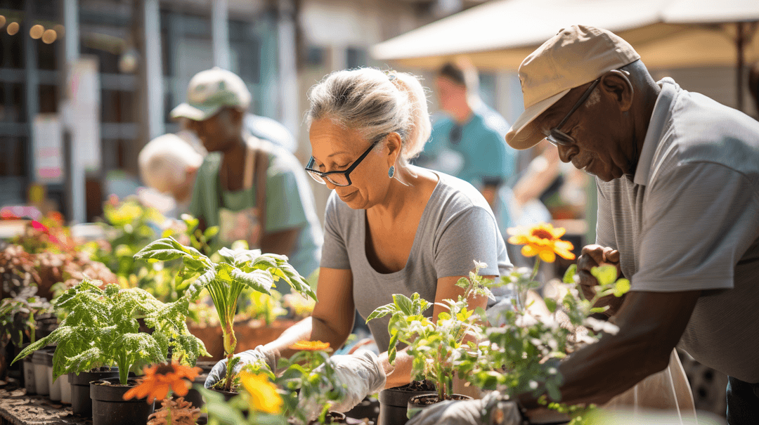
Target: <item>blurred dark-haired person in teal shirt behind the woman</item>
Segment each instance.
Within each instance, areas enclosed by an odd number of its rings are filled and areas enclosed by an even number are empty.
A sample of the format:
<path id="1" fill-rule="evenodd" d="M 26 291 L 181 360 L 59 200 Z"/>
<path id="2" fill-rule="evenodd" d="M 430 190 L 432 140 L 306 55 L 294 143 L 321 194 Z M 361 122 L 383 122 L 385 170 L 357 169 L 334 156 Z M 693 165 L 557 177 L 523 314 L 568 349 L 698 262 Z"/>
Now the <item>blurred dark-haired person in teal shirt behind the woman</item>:
<path id="1" fill-rule="evenodd" d="M 512 225 L 508 184 L 516 172 L 516 151 L 504 141 L 509 124 L 480 99 L 479 80 L 477 69 L 465 61 L 439 69 L 435 87 L 442 114 L 433 120 L 430 142 L 417 163 L 477 187 L 503 233 Z"/>

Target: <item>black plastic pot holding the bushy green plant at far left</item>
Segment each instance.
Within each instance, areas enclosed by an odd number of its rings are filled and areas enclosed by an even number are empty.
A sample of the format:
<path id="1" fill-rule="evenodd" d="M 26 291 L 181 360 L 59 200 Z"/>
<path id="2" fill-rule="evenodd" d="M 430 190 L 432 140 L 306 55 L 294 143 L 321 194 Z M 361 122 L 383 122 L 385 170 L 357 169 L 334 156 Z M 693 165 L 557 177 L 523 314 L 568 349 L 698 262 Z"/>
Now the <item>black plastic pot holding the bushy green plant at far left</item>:
<path id="1" fill-rule="evenodd" d="M 135 379 L 128 379 L 128 385 L 122 386 L 118 377 L 91 382 L 93 425 L 144 425 L 155 402 L 148 403 L 146 398 L 124 400 L 124 393 L 134 386 Z"/>

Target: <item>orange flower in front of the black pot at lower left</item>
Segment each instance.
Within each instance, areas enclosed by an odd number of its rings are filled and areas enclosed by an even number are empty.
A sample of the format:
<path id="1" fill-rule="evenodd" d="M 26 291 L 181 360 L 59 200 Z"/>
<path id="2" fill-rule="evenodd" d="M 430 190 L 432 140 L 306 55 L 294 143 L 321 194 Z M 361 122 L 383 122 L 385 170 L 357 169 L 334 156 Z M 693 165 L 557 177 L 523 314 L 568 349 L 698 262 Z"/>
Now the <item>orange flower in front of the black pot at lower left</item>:
<path id="1" fill-rule="evenodd" d="M 152 403 L 153 400 L 166 398 L 169 390 L 179 396 L 187 395 L 192 380 L 200 373 L 200 367 L 188 367 L 172 362 L 145 367 L 143 372 L 145 375 L 139 379 L 139 385 L 125 392 L 124 400 L 147 397 L 147 402 Z"/>

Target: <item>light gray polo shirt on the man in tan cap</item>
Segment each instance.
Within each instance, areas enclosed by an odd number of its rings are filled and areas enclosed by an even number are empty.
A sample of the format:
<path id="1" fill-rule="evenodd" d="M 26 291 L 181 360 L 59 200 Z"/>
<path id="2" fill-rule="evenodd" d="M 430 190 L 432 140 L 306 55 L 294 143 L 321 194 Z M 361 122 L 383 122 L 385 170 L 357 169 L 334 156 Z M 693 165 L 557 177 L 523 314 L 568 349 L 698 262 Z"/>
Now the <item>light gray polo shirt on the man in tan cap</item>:
<path id="1" fill-rule="evenodd" d="M 597 244 L 632 291 L 704 290 L 679 346 L 759 382 L 759 122 L 671 78 L 635 178 L 597 179 Z"/>

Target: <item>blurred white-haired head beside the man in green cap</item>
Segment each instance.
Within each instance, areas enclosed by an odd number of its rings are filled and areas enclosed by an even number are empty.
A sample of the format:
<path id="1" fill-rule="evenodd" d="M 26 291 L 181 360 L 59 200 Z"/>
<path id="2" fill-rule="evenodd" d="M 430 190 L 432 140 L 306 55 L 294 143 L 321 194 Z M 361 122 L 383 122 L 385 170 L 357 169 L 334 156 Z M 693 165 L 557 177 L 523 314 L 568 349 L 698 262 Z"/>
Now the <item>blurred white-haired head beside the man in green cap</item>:
<path id="1" fill-rule="evenodd" d="M 172 197 L 173 205 L 164 216 L 178 218 L 190 212 L 195 178 L 203 155 L 178 134 L 164 134 L 150 140 L 137 157 L 140 178 L 147 187 Z"/>

